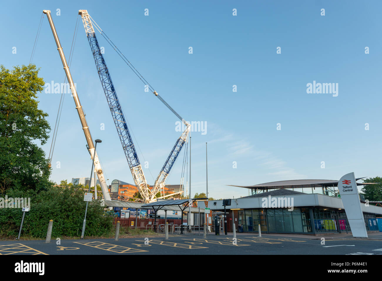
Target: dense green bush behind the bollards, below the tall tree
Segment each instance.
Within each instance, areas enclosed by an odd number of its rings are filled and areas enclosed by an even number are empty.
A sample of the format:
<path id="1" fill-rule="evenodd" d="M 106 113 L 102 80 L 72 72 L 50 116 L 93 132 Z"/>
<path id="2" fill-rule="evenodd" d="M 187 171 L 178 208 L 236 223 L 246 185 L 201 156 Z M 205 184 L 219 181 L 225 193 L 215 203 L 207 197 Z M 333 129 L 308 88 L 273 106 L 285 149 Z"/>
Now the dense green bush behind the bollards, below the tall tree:
<path id="1" fill-rule="evenodd" d="M 20 192 L 8 189 L 8 197 L 31 197 L 21 236 L 45 238 L 49 220 L 53 220 L 52 237 L 81 236 L 86 202 L 84 191 L 76 187 L 50 187 L 47 191 Z M 85 236 L 104 236 L 112 229 L 112 217 L 103 216 L 99 200 L 89 202 Z M 0 237 L 17 237 L 21 208 L 0 208 Z"/>

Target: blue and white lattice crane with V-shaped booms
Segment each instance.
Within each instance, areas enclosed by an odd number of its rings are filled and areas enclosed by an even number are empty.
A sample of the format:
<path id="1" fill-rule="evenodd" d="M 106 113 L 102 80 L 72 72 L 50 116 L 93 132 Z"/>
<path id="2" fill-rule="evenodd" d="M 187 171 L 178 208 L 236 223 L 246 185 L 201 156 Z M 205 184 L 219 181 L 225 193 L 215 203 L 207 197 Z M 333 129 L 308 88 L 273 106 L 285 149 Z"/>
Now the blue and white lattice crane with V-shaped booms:
<path id="1" fill-rule="evenodd" d="M 168 105 L 168 103 L 165 102 L 165 100 L 163 100 L 162 97 L 160 97 L 160 95 L 155 90 L 153 91 L 153 94 L 157 96 L 186 125 L 186 129 L 178 138 L 178 140 L 176 140 L 176 143 L 173 149 L 171 150 L 170 155 L 167 157 L 167 160 L 165 161 L 162 167 L 162 170 L 160 171 L 157 179 L 155 180 L 154 186 L 152 190 L 150 191 L 150 189 L 147 187 L 147 182 L 144 177 L 142 167 L 139 163 L 138 156 L 136 154 L 134 144 L 131 139 L 127 124 L 125 122 L 125 118 L 123 116 L 123 112 L 122 112 L 120 103 L 118 101 L 118 97 L 115 92 L 113 82 L 110 77 L 110 73 L 108 72 L 108 68 L 106 66 L 104 57 L 100 51 L 97 37 L 95 36 L 94 26 L 91 21 L 91 16 L 89 16 L 89 14 L 87 13 L 87 10 L 79 10 L 78 13 L 79 15 L 81 15 L 82 21 L 84 23 L 86 36 L 93 53 L 93 57 L 94 57 L 95 65 L 97 66 L 99 78 L 101 80 L 102 87 L 104 88 L 104 92 L 110 107 L 110 111 L 113 115 L 115 126 L 117 128 L 118 135 L 120 136 L 121 144 L 123 146 L 123 150 L 125 151 L 126 159 L 128 160 L 134 182 L 142 198 L 145 200 L 145 202 L 153 202 L 155 201 L 155 195 L 157 194 L 157 192 L 159 192 L 160 189 L 163 189 L 165 186 L 165 181 L 167 179 L 167 176 L 170 173 L 183 145 L 187 141 L 187 137 L 188 137 L 191 125 L 187 123 L 183 118 L 181 118 L 181 116 L 178 115 L 178 113 L 176 113 L 176 111 L 173 110 L 173 108 L 170 107 L 170 105 Z M 100 32 L 102 31 L 102 29 L 100 29 L 99 26 L 96 26 L 96 29 Z M 176 192 L 176 193 L 181 193 L 181 192 Z"/>

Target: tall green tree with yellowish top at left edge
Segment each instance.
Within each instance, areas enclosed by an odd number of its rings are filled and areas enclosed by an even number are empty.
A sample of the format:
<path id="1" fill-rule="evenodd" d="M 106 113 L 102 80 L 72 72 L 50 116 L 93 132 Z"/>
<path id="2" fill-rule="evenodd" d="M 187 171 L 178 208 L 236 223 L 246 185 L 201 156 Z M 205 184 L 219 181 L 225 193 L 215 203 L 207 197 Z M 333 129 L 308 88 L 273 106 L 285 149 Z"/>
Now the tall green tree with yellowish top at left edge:
<path id="1" fill-rule="evenodd" d="M 7 189 L 46 190 L 49 160 L 41 145 L 49 138 L 48 116 L 38 108 L 37 92 L 44 89 L 35 65 L 0 65 L 0 194 Z"/>

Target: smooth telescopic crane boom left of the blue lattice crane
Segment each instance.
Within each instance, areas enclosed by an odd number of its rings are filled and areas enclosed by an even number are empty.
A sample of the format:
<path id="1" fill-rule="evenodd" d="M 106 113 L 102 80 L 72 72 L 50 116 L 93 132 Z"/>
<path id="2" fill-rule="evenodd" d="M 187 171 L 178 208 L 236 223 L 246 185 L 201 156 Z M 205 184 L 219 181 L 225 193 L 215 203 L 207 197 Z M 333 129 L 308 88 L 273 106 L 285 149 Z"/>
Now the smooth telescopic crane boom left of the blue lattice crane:
<path id="1" fill-rule="evenodd" d="M 84 110 L 82 108 L 81 103 L 79 102 L 77 90 L 74 87 L 74 83 L 73 83 L 73 79 L 72 79 L 71 74 L 70 74 L 68 63 L 66 63 L 66 58 L 65 58 L 64 52 L 63 52 L 62 47 L 61 47 L 60 39 L 58 39 L 56 28 L 54 26 L 52 16 L 50 15 L 50 10 L 43 10 L 42 12 L 47 15 L 47 18 L 49 20 L 50 28 L 52 29 L 53 37 L 54 37 L 54 40 L 56 41 L 56 44 L 57 44 L 57 50 L 58 50 L 58 53 L 60 54 L 62 65 L 64 66 L 66 78 L 68 78 L 68 82 L 70 84 L 70 90 L 71 90 L 71 93 L 72 93 L 72 96 L 74 99 L 74 103 L 76 103 L 76 109 L 78 112 L 78 116 L 79 116 L 79 119 L 81 120 L 82 129 L 84 131 L 84 134 L 86 137 L 86 142 L 87 142 L 87 145 L 89 146 L 89 152 L 90 152 L 90 155 L 92 158 L 93 154 L 94 154 L 93 139 L 92 139 L 92 136 L 91 136 L 90 131 L 89 131 L 89 126 L 87 125 L 87 122 L 86 122 Z M 102 192 L 104 194 L 105 200 L 111 200 L 110 194 L 109 194 L 109 191 L 108 191 L 108 188 L 106 185 L 105 177 L 104 177 L 104 172 L 101 169 L 101 164 L 100 164 L 97 152 L 95 152 L 94 167 L 95 167 L 95 171 L 97 172 L 97 176 L 98 176 L 100 186 L 101 186 Z"/>

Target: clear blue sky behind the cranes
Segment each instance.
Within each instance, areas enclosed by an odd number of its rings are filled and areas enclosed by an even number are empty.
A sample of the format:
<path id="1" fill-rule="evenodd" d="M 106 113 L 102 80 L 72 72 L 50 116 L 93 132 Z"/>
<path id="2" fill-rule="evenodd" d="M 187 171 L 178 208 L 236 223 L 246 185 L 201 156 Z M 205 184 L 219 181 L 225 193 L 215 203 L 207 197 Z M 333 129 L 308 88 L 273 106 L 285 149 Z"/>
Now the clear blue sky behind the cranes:
<path id="1" fill-rule="evenodd" d="M 52 10 L 68 58 L 78 10 L 87 9 L 185 120 L 207 122 L 206 134 L 191 133 L 191 193 L 206 190 L 208 142 L 209 195 L 237 198 L 248 191 L 227 184 L 339 179 L 353 171 L 356 177 L 381 176 L 381 6 L 380 1 L 6 2 L 0 11 L 0 63 L 7 68 L 29 63 L 44 9 Z M 145 8 L 149 16 L 144 16 Z M 325 16 L 320 15 L 322 8 Z M 103 141 L 97 151 L 108 184 L 113 179 L 133 183 L 78 20 L 71 74 L 79 99 L 93 139 Z M 152 184 L 180 135 L 176 116 L 144 92 L 144 84 L 97 37 L 141 163 L 149 161 L 150 171 L 144 172 Z M 46 16 L 32 62 L 45 82 L 63 82 Z M 338 96 L 308 94 L 306 85 L 313 81 L 338 83 Z M 49 113 L 52 129 L 60 96 L 39 94 L 39 107 Z M 90 176 L 85 145 L 73 98 L 67 94 L 52 159 L 53 181 Z M 43 148 L 48 154 L 50 140 Z M 178 160 L 168 184 L 180 182 L 181 164 Z"/>

